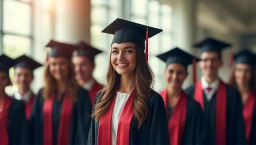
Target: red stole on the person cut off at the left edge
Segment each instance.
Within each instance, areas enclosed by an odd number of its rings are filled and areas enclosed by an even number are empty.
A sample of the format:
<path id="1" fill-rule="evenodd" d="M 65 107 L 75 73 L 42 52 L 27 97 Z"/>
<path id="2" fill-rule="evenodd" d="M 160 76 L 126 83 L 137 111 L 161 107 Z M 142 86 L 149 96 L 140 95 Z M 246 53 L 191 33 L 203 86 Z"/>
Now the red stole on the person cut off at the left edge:
<path id="1" fill-rule="evenodd" d="M 9 144 L 8 136 L 8 112 L 12 99 L 5 96 L 3 100 L 3 110 L 0 112 L 0 144 Z"/>

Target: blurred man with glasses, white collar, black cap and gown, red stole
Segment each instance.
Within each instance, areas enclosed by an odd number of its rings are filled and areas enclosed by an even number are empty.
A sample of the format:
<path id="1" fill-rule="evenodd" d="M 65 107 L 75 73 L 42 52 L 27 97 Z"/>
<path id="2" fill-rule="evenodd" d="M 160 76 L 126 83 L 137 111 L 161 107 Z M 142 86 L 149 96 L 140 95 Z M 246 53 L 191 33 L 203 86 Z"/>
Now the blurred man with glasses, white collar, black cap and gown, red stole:
<path id="1" fill-rule="evenodd" d="M 222 65 L 221 50 L 230 44 L 206 38 L 195 44 L 201 49 L 203 76 L 187 88 L 188 95 L 201 104 L 205 115 L 207 144 L 245 144 L 242 102 L 238 90 L 218 76 Z"/>

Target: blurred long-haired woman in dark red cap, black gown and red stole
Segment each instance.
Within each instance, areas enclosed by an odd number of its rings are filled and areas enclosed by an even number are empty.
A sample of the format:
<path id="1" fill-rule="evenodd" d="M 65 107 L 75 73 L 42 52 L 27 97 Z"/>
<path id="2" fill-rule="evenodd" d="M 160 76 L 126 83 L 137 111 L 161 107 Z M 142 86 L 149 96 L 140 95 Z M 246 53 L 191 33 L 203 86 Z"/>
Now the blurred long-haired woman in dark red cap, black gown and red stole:
<path id="1" fill-rule="evenodd" d="M 71 62 L 76 45 L 50 41 L 44 86 L 31 114 L 34 144 L 86 144 L 91 123 L 89 93 L 79 87 Z"/>

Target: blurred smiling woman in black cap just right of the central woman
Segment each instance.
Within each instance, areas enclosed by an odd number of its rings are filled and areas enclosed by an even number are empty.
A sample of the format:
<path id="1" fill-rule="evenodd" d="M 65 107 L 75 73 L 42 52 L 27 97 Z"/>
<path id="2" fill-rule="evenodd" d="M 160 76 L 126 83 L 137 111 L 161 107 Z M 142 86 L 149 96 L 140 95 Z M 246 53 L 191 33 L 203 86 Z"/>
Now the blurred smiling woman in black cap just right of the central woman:
<path id="1" fill-rule="evenodd" d="M 189 64 L 198 61 L 193 55 L 175 47 L 157 58 L 166 63 L 164 100 L 170 144 L 205 144 L 203 111 L 198 102 L 187 96 L 182 84 L 188 76 Z"/>

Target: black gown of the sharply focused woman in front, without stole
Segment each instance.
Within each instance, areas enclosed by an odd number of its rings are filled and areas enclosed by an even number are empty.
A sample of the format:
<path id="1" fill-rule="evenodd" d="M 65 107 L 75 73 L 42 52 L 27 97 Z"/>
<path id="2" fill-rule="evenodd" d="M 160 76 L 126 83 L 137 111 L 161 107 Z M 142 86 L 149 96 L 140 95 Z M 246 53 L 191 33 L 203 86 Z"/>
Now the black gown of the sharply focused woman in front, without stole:
<path id="1" fill-rule="evenodd" d="M 97 102 L 99 94 L 95 99 Z M 138 121 L 135 117 L 130 125 L 130 144 L 169 144 L 164 102 L 157 92 L 151 91 L 148 99 L 148 116 L 138 129 Z M 88 144 L 97 144 L 99 122 L 92 118 Z"/>

